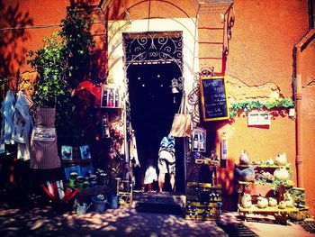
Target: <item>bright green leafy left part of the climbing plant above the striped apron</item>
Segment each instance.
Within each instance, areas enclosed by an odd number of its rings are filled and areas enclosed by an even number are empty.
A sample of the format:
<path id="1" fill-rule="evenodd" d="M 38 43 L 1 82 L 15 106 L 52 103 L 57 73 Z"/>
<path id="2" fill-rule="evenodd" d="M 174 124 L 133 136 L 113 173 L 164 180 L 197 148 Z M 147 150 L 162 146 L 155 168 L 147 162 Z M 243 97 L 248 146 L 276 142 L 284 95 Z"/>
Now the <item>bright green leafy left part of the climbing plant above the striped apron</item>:
<path id="1" fill-rule="evenodd" d="M 36 52 L 30 51 L 28 63 L 39 73 L 32 100 L 39 107 L 53 107 L 59 96 L 68 94 L 64 58 L 65 45 L 56 35 L 44 39 L 44 46 Z"/>

